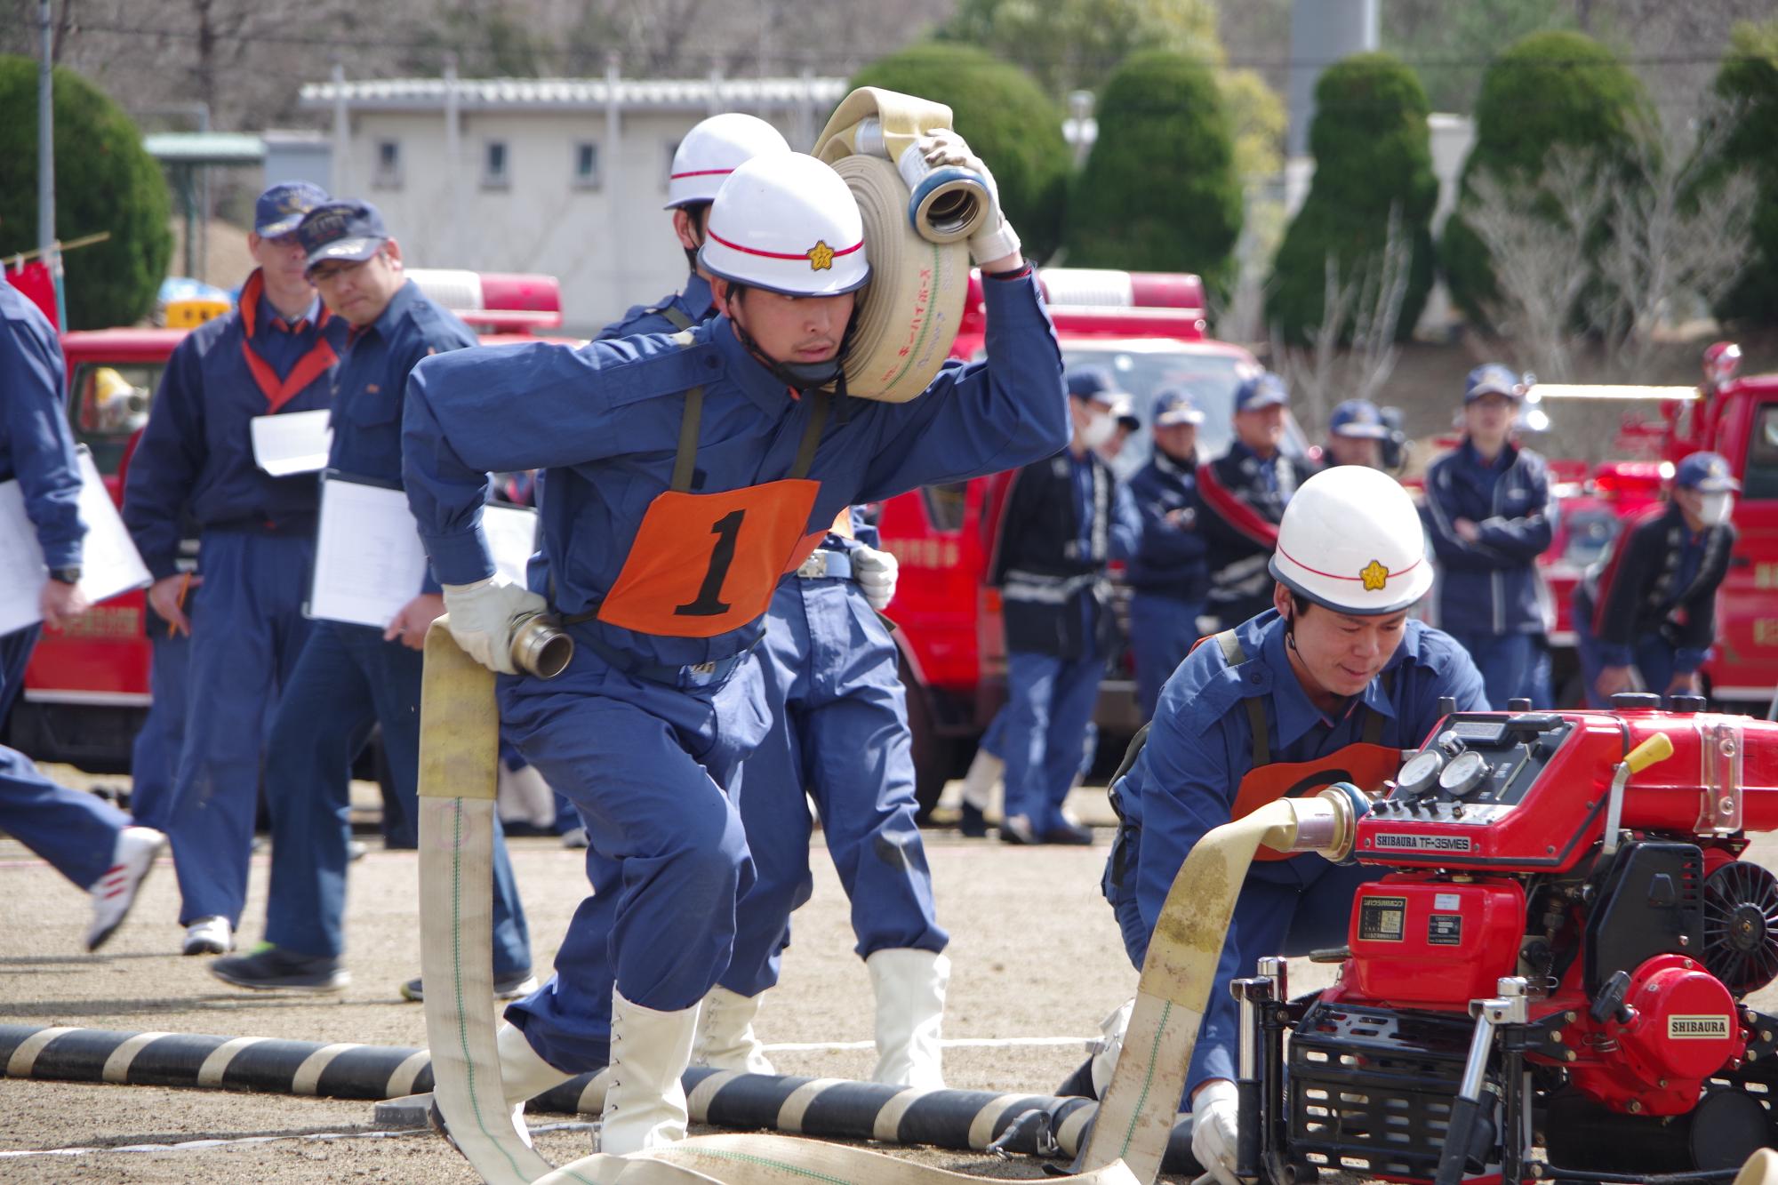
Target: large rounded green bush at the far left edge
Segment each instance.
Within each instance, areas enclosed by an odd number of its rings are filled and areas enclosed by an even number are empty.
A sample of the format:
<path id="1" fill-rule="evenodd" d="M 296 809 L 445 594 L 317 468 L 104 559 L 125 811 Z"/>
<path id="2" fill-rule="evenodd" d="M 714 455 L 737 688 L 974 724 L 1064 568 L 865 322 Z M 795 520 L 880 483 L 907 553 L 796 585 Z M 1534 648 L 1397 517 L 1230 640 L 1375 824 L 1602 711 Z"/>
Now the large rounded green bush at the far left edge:
<path id="1" fill-rule="evenodd" d="M 167 274 L 167 181 L 142 133 L 103 91 L 57 69 L 55 233 L 110 238 L 64 256 L 69 329 L 128 326 Z M 0 55 L 0 254 L 37 246 L 37 62 Z"/>

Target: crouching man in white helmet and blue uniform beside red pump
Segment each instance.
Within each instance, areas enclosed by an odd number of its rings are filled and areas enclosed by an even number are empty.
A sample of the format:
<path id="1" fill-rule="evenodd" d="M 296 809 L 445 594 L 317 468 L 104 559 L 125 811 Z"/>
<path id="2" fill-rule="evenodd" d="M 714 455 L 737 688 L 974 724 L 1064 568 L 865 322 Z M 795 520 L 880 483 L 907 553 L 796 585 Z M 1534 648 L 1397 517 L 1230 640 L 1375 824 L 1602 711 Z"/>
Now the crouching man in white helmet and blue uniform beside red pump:
<path id="1" fill-rule="evenodd" d="M 1273 607 L 1191 651 L 1111 788 L 1120 827 L 1104 893 L 1138 968 L 1175 874 L 1213 827 L 1339 781 L 1376 792 L 1401 749 L 1444 715 L 1440 699 L 1488 706 L 1469 655 L 1408 619 L 1431 571 L 1414 502 L 1392 477 L 1358 466 L 1310 477 L 1284 511 L 1269 568 Z M 1353 893 L 1378 875 L 1277 852 L 1246 872 L 1181 1107 L 1195 1119 L 1193 1153 L 1223 1185 L 1236 1185 L 1239 1016 L 1229 982 L 1262 955 L 1339 947 Z M 1118 1020 L 1108 1021 L 1106 1052 L 1063 1091 L 1104 1089 Z"/>

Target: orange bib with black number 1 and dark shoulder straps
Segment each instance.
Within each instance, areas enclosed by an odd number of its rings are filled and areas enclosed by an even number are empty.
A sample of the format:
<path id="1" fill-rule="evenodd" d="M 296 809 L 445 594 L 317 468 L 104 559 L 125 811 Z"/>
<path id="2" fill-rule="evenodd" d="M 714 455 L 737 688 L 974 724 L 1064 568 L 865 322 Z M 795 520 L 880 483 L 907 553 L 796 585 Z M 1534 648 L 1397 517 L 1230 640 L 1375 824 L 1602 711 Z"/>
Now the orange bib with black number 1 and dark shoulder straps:
<path id="1" fill-rule="evenodd" d="M 715 637 L 770 609 L 779 576 L 804 550 L 821 488 L 804 477 L 827 422 L 827 397 L 814 400 L 789 477 L 695 495 L 688 491 L 704 391 L 686 391 L 672 484 L 649 502 L 599 621 L 658 637 Z"/>

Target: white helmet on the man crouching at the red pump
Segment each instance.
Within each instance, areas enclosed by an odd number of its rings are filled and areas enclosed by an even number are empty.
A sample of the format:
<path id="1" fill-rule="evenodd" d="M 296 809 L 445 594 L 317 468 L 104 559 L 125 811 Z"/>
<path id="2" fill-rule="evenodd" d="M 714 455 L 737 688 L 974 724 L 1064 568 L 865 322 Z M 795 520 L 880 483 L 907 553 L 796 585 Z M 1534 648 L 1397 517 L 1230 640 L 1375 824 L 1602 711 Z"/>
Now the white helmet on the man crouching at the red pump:
<path id="1" fill-rule="evenodd" d="M 1278 523 L 1271 575 L 1316 605 L 1358 617 L 1399 612 L 1433 587 L 1414 498 L 1364 464 L 1323 470 L 1298 488 Z"/>

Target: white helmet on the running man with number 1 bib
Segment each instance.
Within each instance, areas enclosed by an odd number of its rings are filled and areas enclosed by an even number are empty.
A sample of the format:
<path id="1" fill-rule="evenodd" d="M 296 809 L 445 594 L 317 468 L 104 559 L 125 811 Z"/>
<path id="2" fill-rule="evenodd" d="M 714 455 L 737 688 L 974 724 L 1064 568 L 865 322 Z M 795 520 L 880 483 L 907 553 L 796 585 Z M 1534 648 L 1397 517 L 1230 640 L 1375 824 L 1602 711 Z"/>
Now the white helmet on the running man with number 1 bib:
<path id="1" fill-rule="evenodd" d="M 697 260 L 711 276 L 784 295 L 839 295 L 871 279 L 857 199 L 802 153 L 756 157 L 729 174 Z"/>

